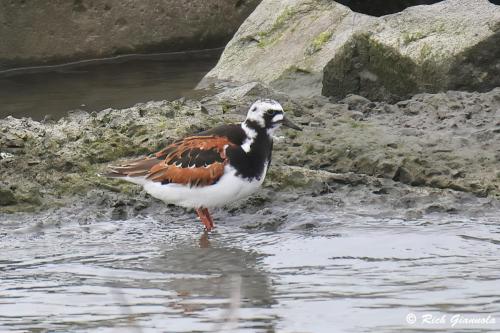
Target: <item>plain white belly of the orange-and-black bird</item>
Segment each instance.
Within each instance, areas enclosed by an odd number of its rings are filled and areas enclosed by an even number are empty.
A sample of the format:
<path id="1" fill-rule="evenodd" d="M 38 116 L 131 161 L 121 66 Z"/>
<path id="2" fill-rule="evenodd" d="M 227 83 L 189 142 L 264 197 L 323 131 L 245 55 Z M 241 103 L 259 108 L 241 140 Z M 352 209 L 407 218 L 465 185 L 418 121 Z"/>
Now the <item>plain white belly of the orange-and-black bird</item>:
<path id="1" fill-rule="evenodd" d="M 245 198 L 257 191 L 266 176 L 267 167 L 259 180 L 251 182 L 236 177 L 236 170 L 226 165 L 224 175 L 213 185 L 203 187 L 189 187 L 181 184 L 162 185 L 159 182 L 152 182 L 142 178 L 134 179 L 134 183 L 144 186 L 144 190 L 151 196 L 166 203 L 188 207 L 219 207 L 236 200 Z M 128 178 L 128 177 L 127 177 Z M 127 179 L 132 181 L 131 179 Z"/>

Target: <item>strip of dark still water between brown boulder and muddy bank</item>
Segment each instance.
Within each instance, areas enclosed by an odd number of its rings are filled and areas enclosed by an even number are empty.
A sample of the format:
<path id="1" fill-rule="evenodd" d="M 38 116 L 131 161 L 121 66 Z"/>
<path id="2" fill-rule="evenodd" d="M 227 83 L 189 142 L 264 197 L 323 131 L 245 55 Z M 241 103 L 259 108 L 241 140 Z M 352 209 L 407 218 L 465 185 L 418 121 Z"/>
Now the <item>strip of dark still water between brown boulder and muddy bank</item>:
<path id="1" fill-rule="evenodd" d="M 0 72 L 0 118 L 58 119 L 68 110 L 121 109 L 151 100 L 196 97 L 195 86 L 219 54 L 207 50 Z"/>

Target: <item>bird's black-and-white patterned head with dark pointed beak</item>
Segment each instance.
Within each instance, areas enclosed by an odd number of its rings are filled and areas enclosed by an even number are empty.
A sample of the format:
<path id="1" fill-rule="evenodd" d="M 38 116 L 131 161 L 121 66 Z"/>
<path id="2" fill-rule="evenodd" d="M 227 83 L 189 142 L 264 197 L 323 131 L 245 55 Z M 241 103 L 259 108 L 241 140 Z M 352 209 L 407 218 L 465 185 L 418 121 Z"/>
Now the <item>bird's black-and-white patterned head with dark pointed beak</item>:
<path id="1" fill-rule="evenodd" d="M 280 103 L 272 99 L 258 100 L 252 104 L 247 113 L 247 124 L 252 127 L 266 129 L 269 134 L 273 134 L 281 125 L 302 131 L 302 129 L 285 117 L 285 112 Z"/>

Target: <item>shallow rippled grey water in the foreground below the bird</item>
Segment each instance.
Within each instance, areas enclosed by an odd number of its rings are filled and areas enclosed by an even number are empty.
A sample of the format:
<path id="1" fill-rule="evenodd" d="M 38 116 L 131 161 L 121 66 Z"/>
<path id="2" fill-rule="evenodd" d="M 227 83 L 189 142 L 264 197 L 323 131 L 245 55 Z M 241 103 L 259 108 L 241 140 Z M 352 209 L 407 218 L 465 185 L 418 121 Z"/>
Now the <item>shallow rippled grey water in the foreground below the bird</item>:
<path id="1" fill-rule="evenodd" d="M 290 216 L 304 212 L 294 209 Z M 263 232 L 221 214 L 208 237 L 191 214 L 43 229 L 4 222 L 0 331 L 500 330 L 494 216 L 404 221 L 322 211 L 315 228 Z M 496 322 L 452 327 L 454 315 Z"/>

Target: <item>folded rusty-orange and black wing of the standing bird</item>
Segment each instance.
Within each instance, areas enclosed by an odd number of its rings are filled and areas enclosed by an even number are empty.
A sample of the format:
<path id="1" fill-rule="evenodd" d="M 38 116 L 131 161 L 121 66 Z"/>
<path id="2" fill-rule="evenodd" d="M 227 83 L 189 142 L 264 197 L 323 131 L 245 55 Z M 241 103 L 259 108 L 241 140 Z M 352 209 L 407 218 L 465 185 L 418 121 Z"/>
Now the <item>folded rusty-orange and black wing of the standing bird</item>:
<path id="1" fill-rule="evenodd" d="M 109 177 L 145 177 L 154 182 L 205 186 L 217 182 L 228 163 L 224 136 L 191 136 L 146 158 L 111 166 Z"/>

